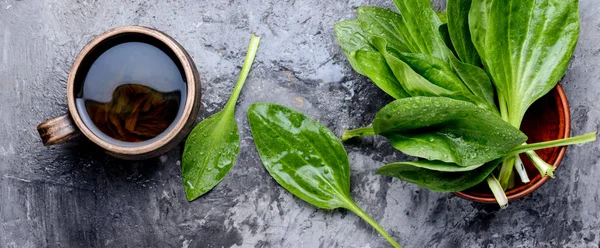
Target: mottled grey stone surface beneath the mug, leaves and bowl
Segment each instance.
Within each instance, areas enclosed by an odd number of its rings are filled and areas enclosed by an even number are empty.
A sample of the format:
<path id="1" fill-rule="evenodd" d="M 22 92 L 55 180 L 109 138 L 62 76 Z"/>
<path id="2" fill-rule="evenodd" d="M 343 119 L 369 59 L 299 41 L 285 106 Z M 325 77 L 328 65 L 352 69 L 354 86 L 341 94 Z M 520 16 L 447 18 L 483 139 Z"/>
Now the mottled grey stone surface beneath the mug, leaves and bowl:
<path id="1" fill-rule="evenodd" d="M 444 8 L 444 0 L 436 8 Z M 354 73 L 332 25 L 389 0 L 0 0 L 0 247 L 387 247 L 347 211 L 318 210 L 263 169 L 245 112 L 256 101 L 299 109 L 336 133 L 366 125 L 390 99 Z M 581 1 L 582 31 L 562 83 L 573 134 L 600 118 L 600 5 Z M 201 117 L 222 108 L 250 33 L 262 43 L 236 118 L 241 154 L 212 192 L 188 203 L 181 147 L 120 161 L 85 140 L 43 147 L 36 125 L 66 112 L 70 65 L 120 25 L 163 30 L 201 73 Z M 406 247 L 598 247 L 600 146 L 568 149 L 557 178 L 506 210 L 374 174 L 403 159 L 381 138 L 347 144 L 352 196 Z"/>

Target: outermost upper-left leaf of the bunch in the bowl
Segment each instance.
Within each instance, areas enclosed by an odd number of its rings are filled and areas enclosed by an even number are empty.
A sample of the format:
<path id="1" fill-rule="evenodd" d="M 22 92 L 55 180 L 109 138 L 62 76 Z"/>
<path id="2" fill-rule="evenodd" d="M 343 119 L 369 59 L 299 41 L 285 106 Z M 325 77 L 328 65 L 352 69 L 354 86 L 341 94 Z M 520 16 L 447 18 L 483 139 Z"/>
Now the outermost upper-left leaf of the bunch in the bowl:
<path id="1" fill-rule="evenodd" d="M 358 20 L 348 20 L 334 26 L 338 43 L 356 72 L 390 96 L 399 99 L 409 95 L 402 89 L 383 56 L 364 37 Z"/>

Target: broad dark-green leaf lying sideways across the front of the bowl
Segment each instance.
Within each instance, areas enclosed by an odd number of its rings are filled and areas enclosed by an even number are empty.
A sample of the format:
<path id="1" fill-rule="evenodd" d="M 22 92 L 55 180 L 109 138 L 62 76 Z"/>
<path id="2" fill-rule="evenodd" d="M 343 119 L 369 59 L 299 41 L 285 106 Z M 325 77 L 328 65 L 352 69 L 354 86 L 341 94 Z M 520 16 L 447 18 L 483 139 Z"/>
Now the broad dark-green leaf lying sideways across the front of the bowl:
<path id="1" fill-rule="evenodd" d="M 396 100 L 377 112 L 373 129 L 405 154 L 460 166 L 500 158 L 527 140 L 493 112 L 444 97 Z"/>

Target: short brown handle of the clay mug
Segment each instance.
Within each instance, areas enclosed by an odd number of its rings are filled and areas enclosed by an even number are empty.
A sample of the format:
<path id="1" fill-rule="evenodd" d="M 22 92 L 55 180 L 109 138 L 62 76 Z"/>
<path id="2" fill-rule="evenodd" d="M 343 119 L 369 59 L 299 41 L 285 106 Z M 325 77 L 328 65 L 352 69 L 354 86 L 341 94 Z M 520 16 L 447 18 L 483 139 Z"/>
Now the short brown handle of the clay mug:
<path id="1" fill-rule="evenodd" d="M 40 123 L 37 129 L 44 146 L 64 143 L 80 134 L 75 123 L 73 123 L 73 119 L 68 114 L 48 119 Z"/>

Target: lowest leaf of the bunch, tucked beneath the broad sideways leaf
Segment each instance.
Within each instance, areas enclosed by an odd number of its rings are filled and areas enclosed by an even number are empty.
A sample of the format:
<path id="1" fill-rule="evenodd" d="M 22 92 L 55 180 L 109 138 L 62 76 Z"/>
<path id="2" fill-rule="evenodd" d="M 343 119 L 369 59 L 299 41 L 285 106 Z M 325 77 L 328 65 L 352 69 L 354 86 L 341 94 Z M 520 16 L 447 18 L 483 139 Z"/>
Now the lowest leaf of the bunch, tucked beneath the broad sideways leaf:
<path id="1" fill-rule="evenodd" d="M 458 192 L 481 183 L 499 163 L 499 159 L 494 160 L 464 172 L 430 170 L 422 163 L 394 163 L 382 166 L 377 170 L 377 174 L 396 177 L 433 191 Z"/>

